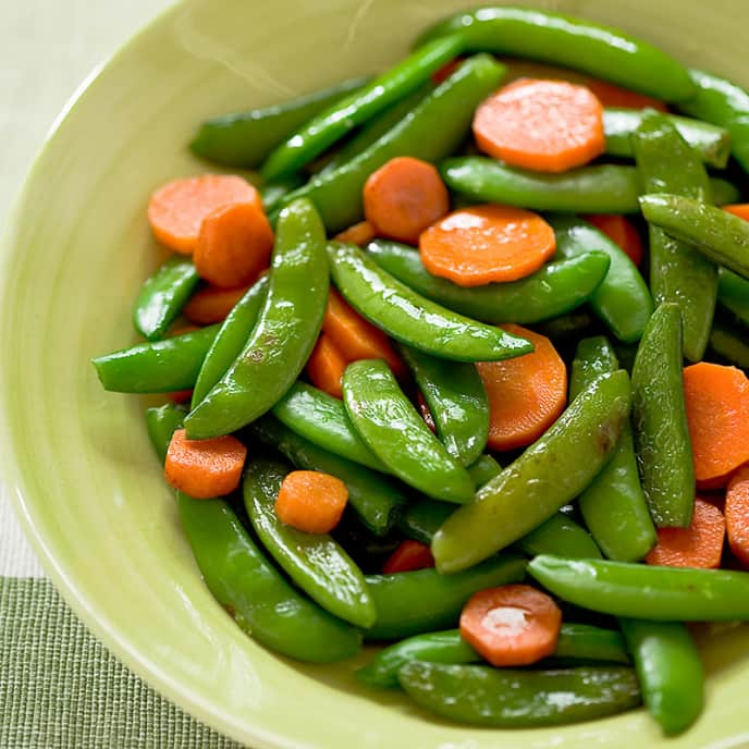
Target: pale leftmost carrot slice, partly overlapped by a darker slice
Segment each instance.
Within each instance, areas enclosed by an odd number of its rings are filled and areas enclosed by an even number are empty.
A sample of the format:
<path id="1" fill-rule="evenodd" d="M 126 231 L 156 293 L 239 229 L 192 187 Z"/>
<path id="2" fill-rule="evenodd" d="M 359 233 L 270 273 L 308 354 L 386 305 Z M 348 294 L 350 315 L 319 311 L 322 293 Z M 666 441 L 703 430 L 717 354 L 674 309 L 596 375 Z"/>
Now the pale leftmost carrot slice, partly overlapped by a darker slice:
<path id="1" fill-rule="evenodd" d="M 148 221 L 156 238 L 177 253 L 195 250 L 202 220 L 234 202 L 262 206 L 260 195 L 234 174 L 204 174 L 168 182 L 148 202 Z"/>

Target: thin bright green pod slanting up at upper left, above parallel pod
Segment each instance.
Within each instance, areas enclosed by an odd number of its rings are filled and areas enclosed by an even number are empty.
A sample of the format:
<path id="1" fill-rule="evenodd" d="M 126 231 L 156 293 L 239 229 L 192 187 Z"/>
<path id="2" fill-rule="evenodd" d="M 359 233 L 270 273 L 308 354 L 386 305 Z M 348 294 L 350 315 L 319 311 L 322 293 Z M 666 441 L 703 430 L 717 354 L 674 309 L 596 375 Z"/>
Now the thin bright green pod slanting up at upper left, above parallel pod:
<path id="1" fill-rule="evenodd" d="M 278 146 L 262 164 L 262 175 L 273 180 L 290 174 L 320 156 L 356 125 L 367 122 L 398 101 L 463 52 L 459 37 L 441 38 L 425 45 L 410 57 L 374 78 L 360 90 L 311 118 Z"/>

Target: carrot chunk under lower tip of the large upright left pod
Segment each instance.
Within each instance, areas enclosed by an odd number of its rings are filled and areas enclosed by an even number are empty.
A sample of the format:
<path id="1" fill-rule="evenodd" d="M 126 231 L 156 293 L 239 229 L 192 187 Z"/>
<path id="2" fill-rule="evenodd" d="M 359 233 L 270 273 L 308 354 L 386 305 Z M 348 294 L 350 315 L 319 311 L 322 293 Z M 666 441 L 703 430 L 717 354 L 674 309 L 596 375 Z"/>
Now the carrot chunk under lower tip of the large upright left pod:
<path id="1" fill-rule="evenodd" d="M 188 440 L 177 429 L 169 443 L 167 481 L 198 500 L 223 496 L 240 486 L 247 449 L 231 434 L 210 440 Z"/>

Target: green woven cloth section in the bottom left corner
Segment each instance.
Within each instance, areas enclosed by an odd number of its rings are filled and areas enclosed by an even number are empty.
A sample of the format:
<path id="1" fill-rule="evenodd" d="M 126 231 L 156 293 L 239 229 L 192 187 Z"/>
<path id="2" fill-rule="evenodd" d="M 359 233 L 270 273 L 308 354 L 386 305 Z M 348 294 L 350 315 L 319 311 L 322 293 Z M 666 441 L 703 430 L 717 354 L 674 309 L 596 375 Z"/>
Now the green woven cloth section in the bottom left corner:
<path id="1" fill-rule="evenodd" d="M 241 749 L 133 675 L 38 578 L 0 578 L 0 747 Z"/>

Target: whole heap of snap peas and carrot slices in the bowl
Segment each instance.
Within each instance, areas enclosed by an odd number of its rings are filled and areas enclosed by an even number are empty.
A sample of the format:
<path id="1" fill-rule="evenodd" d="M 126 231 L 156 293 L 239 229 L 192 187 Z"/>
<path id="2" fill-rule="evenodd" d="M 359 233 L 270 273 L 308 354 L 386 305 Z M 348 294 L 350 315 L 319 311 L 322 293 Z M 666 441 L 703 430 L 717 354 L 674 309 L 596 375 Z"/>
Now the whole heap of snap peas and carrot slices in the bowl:
<path id="1" fill-rule="evenodd" d="M 727 81 L 504 7 L 205 122 L 259 188 L 156 189 L 145 342 L 94 365 L 168 395 L 148 431 L 237 625 L 390 642 L 361 682 L 461 723 L 686 729 L 684 623 L 749 619 L 747 122 Z"/>

